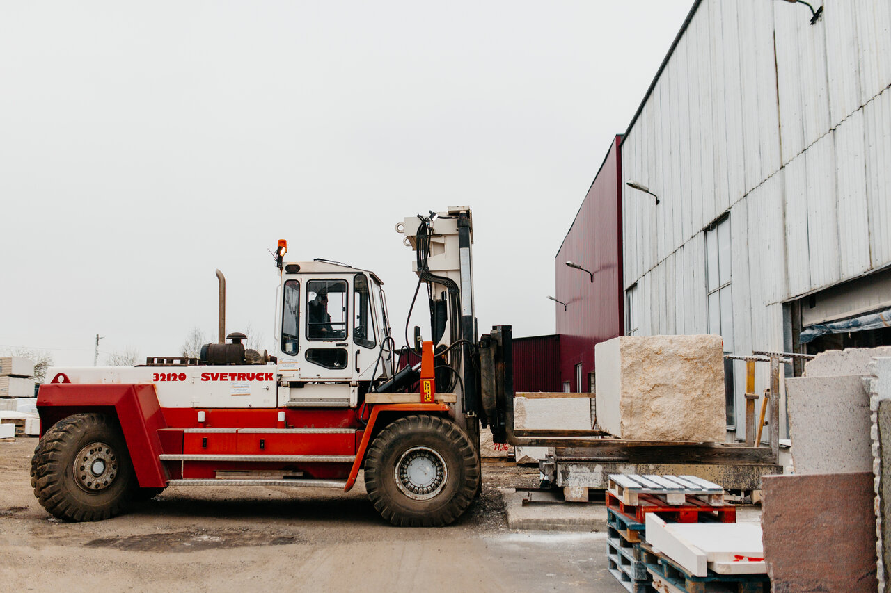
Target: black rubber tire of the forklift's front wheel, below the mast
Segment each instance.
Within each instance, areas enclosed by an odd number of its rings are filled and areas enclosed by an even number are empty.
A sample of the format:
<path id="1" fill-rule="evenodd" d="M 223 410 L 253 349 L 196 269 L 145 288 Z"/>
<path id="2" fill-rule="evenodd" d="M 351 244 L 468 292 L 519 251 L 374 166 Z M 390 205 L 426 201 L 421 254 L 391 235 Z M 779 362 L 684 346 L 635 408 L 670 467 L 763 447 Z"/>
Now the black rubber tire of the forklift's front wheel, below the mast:
<path id="1" fill-rule="evenodd" d="M 435 451 L 446 473 L 438 492 L 413 500 L 400 490 L 396 464 L 406 451 Z M 365 490 L 380 516 L 400 527 L 441 527 L 470 506 L 479 484 L 479 464 L 470 439 L 453 422 L 437 416 L 406 416 L 374 439 L 365 458 Z"/>

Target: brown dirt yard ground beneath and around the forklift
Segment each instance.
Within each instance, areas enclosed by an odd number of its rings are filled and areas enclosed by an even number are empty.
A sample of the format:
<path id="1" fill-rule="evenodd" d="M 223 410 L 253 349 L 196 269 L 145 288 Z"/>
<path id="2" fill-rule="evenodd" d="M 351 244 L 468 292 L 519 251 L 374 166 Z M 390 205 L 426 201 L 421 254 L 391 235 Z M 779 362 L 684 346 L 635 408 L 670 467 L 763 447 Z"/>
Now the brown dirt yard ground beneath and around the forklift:
<path id="1" fill-rule="evenodd" d="M 171 487 L 126 515 L 69 524 L 29 482 L 34 438 L 0 443 L 0 582 L 70 591 L 624 591 L 602 533 L 511 532 L 499 487 L 535 467 L 484 464 L 482 494 L 455 524 L 383 522 L 361 480 L 307 488 Z"/>

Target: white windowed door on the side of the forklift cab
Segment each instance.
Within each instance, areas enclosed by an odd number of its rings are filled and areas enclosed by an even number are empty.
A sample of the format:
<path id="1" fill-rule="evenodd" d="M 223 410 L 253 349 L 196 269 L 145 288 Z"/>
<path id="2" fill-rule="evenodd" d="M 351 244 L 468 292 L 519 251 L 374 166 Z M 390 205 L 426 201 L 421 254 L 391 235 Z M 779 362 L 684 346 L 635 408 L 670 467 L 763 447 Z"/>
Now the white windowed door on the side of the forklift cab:
<path id="1" fill-rule="evenodd" d="M 349 381 L 353 378 L 350 350 L 350 280 L 310 278 L 304 289 L 304 337 L 300 378 L 308 381 Z"/>

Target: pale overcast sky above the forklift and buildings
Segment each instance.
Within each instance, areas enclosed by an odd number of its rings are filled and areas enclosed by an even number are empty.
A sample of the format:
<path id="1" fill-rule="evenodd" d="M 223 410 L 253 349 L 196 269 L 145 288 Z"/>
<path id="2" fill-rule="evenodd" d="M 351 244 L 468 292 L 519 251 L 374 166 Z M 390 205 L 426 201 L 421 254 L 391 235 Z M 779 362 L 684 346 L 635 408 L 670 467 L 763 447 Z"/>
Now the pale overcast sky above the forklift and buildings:
<path id="1" fill-rule="evenodd" d="M 0 0 L 0 350 L 177 355 L 216 268 L 271 350 L 278 239 L 377 272 L 401 336 L 394 225 L 464 204 L 480 329 L 553 333 L 560 241 L 691 4 Z"/>

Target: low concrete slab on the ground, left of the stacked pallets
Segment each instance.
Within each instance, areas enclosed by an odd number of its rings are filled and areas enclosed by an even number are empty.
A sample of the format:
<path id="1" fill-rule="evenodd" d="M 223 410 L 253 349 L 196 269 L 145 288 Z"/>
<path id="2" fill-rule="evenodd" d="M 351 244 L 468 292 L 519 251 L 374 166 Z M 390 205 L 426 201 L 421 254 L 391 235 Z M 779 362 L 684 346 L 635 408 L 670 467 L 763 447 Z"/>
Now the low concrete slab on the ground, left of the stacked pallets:
<path id="1" fill-rule="evenodd" d="M 533 502 L 523 505 L 523 491 L 502 489 L 507 525 L 511 529 L 548 532 L 605 532 L 607 508 L 595 502 Z M 540 497 L 539 497 L 540 498 Z"/>

